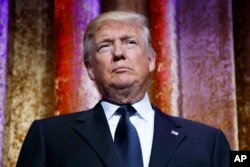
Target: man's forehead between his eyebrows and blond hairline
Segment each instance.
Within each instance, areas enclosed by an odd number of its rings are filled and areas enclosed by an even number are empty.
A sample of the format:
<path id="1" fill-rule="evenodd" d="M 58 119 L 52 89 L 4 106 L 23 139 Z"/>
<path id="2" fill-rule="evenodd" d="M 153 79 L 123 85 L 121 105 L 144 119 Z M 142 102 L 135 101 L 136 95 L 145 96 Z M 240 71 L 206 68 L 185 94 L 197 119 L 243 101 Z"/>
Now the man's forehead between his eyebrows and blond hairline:
<path id="1" fill-rule="evenodd" d="M 95 40 L 120 36 L 139 37 L 141 29 L 135 23 L 129 21 L 109 20 L 103 22 L 94 33 Z"/>

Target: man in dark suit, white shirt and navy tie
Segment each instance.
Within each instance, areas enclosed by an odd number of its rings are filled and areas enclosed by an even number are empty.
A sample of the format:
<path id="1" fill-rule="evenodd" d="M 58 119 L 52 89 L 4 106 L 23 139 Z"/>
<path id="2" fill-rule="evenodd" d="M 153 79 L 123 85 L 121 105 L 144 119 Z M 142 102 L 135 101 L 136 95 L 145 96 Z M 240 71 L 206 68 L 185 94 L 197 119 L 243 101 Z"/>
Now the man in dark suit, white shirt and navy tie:
<path id="1" fill-rule="evenodd" d="M 150 104 L 155 53 L 143 16 L 102 14 L 88 25 L 84 48 L 102 100 L 88 111 L 34 121 L 18 167 L 229 166 L 221 130 L 165 115 Z"/>

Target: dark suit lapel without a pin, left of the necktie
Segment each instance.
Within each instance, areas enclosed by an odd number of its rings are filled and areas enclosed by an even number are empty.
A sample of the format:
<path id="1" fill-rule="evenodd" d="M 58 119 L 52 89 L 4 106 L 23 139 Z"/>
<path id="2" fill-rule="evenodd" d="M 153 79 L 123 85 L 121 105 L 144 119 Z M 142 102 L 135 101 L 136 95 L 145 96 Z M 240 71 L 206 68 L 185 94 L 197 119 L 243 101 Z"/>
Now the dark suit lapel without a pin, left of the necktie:
<path id="1" fill-rule="evenodd" d="M 93 110 L 83 113 L 77 120 L 75 130 L 91 145 L 106 166 L 119 166 L 109 125 L 100 102 Z"/>

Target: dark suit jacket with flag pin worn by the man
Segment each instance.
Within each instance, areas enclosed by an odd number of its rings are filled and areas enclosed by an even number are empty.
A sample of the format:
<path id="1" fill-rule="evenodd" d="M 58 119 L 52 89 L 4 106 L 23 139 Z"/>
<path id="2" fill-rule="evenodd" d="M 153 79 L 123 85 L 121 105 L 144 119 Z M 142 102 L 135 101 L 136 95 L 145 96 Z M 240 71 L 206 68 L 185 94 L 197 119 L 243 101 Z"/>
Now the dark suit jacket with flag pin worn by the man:
<path id="1" fill-rule="evenodd" d="M 222 131 L 154 110 L 150 167 L 229 166 L 230 148 Z M 17 167 L 45 166 L 119 166 L 100 103 L 88 111 L 33 122 Z"/>

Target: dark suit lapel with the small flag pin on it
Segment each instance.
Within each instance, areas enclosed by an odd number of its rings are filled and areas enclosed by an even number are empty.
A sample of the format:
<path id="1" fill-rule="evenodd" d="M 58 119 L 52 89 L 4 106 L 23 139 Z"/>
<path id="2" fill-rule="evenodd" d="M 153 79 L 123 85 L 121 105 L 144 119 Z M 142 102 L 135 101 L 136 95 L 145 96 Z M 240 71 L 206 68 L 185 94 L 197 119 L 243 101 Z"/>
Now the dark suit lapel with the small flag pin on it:
<path id="1" fill-rule="evenodd" d="M 170 117 L 155 109 L 154 138 L 149 167 L 163 167 L 169 163 L 186 134 Z"/>

